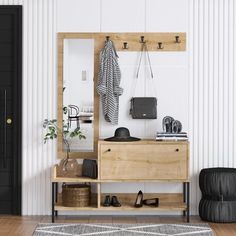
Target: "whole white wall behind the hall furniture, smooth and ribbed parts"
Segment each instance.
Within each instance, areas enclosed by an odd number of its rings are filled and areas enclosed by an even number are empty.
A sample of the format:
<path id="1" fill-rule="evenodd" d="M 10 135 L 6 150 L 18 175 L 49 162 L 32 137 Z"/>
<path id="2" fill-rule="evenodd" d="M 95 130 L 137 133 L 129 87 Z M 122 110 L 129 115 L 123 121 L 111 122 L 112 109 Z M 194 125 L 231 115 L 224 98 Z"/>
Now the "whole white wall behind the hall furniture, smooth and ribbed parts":
<path id="1" fill-rule="evenodd" d="M 159 116 L 154 122 L 140 121 L 133 127 L 125 115 L 136 55 L 119 54 L 122 86 L 126 88 L 121 97 L 125 106 L 121 108 L 120 121 L 127 119 L 131 134 L 143 137 L 151 137 L 152 130 L 160 128 L 165 114 L 183 122 L 190 134 L 191 205 L 196 214 L 201 168 L 236 166 L 235 1 L 0 0 L 0 4 L 24 6 L 23 214 L 50 214 L 50 166 L 56 152 L 55 145 L 42 143 L 42 121 L 56 116 L 56 32 L 59 31 L 188 33 L 187 52 L 162 53 L 155 58 L 152 55 L 158 76 Z M 171 99 L 165 99 L 164 86 L 170 82 L 171 91 L 176 91 L 180 83 L 178 88 L 184 93 L 171 94 L 177 106 Z M 140 93 L 144 91 L 140 89 Z M 100 127 L 102 137 L 113 135 L 115 127 L 108 126 L 103 119 Z M 123 188 L 118 187 L 118 190 Z M 140 187 L 151 191 L 155 186 L 129 184 L 125 190 L 135 192 Z M 114 189 L 114 185 L 105 188 Z M 170 190 L 177 191 L 179 186 Z"/>

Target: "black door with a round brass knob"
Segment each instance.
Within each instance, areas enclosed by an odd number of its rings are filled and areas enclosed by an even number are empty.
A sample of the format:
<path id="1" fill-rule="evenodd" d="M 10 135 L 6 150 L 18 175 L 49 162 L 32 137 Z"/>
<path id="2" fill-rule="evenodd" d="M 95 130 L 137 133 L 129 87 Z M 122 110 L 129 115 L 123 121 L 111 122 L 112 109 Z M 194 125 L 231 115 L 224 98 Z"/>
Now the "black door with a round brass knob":
<path id="1" fill-rule="evenodd" d="M 21 214 L 22 7 L 0 6 L 0 214 Z"/>

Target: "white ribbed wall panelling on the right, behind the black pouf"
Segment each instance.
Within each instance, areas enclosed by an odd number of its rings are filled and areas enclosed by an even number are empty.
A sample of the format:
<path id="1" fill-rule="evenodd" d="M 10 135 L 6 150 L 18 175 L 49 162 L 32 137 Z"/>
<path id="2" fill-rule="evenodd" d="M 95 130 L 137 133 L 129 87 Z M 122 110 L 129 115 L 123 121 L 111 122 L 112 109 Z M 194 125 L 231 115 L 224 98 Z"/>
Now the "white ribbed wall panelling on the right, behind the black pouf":
<path id="1" fill-rule="evenodd" d="M 189 6 L 189 126 L 191 204 L 197 213 L 198 174 L 236 167 L 236 3 L 191 0 Z"/>

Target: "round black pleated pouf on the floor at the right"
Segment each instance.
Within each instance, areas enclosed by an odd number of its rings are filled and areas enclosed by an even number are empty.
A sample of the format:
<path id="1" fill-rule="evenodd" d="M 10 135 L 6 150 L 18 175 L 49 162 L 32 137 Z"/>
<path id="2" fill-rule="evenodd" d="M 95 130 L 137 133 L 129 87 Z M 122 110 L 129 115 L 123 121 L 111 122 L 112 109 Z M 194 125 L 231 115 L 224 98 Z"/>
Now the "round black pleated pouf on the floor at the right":
<path id="1" fill-rule="evenodd" d="M 217 223 L 236 222 L 236 169 L 207 168 L 199 175 L 202 220 Z"/>

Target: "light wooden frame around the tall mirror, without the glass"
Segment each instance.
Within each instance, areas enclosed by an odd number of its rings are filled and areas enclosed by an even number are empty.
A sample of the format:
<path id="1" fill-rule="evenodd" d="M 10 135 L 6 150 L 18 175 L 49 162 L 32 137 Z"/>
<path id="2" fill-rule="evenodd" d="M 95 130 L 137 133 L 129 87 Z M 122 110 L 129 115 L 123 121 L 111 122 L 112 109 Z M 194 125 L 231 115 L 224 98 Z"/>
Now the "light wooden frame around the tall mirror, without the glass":
<path id="1" fill-rule="evenodd" d="M 93 120 L 93 151 L 91 152 L 70 152 L 70 158 L 97 158 L 97 143 L 99 138 L 99 96 L 96 92 L 96 84 L 99 70 L 99 51 L 96 45 L 94 34 L 92 33 L 58 33 L 57 53 L 58 53 L 58 91 L 57 91 L 57 121 L 58 127 L 62 127 L 63 121 L 63 66 L 64 66 L 64 39 L 93 39 L 94 40 L 94 120 Z M 63 149 L 62 135 L 57 137 L 57 158 L 65 158 L 66 151 Z"/>

